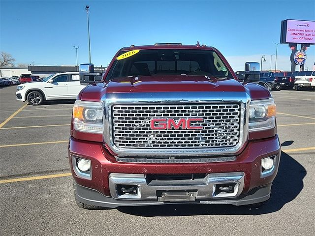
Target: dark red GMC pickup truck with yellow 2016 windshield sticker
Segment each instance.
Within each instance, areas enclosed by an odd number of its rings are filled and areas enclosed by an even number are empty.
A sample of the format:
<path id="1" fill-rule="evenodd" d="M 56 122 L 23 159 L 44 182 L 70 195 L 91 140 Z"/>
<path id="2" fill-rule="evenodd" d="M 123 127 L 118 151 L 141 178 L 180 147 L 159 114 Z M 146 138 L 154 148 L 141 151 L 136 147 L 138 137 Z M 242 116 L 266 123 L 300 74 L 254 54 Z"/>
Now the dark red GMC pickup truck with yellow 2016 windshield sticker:
<path id="1" fill-rule="evenodd" d="M 281 145 L 259 63 L 239 81 L 214 47 L 122 48 L 104 74 L 80 65 L 68 156 L 86 209 L 269 199 Z"/>

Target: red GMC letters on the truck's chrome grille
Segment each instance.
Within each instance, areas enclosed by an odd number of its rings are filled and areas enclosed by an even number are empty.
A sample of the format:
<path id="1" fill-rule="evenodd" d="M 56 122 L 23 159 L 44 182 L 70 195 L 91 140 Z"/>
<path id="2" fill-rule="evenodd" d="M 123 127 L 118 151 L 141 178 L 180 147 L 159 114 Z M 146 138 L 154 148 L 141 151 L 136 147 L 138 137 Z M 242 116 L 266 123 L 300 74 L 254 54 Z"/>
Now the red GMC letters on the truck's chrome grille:
<path id="1" fill-rule="evenodd" d="M 165 129 L 203 129 L 202 126 L 192 124 L 191 122 L 203 122 L 203 118 L 180 118 L 175 120 L 173 118 L 153 118 L 151 119 L 151 129 L 165 130 Z"/>

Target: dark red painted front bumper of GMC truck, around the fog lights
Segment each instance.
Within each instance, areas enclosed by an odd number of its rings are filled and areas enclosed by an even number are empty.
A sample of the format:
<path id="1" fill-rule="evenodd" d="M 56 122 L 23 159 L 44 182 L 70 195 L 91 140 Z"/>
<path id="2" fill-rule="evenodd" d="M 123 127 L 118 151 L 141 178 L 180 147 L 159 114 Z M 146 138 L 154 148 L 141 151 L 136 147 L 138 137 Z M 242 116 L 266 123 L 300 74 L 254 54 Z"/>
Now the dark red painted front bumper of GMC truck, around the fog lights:
<path id="1" fill-rule="evenodd" d="M 260 178 L 261 158 L 278 154 L 280 156 L 280 142 L 278 136 L 269 139 L 249 142 L 246 148 L 237 155 L 236 161 L 197 164 L 144 164 L 144 163 L 119 163 L 101 143 L 79 141 L 70 138 L 70 154 L 80 155 L 92 162 L 92 180 L 79 178 L 71 171 L 75 181 L 89 188 L 110 196 L 108 178 L 110 173 L 128 174 L 197 174 L 197 173 L 225 173 L 244 172 L 245 186 L 243 193 L 251 189 L 272 182 L 277 174 Z M 278 159 L 279 160 L 279 159 Z M 256 164 L 256 165 L 255 165 Z"/>

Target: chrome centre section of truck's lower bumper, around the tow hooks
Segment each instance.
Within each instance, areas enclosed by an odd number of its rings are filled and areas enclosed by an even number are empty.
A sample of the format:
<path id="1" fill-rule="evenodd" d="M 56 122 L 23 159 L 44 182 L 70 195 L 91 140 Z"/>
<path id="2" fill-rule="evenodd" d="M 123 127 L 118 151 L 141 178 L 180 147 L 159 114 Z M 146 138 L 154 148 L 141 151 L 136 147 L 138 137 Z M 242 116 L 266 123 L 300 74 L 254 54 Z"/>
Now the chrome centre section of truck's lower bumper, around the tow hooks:
<path id="1" fill-rule="evenodd" d="M 123 192 L 121 188 L 134 189 Z M 222 191 L 220 188 L 229 188 Z M 149 180 L 145 175 L 110 174 L 112 198 L 137 201 L 195 201 L 201 199 L 234 198 L 244 188 L 244 172 L 208 174 L 203 178 L 185 180 Z"/>

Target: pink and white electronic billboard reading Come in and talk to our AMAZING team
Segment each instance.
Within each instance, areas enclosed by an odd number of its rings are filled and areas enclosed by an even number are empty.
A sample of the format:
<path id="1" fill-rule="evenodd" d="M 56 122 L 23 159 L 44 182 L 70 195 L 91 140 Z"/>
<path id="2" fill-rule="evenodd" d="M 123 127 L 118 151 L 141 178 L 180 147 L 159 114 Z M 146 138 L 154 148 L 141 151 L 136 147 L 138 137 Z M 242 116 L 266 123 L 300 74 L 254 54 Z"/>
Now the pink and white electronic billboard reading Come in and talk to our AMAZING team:
<path id="1" fill-rule="evenodd" d="M 282 21 L 280 43 L 315 44 L 315 21 Z"/>

